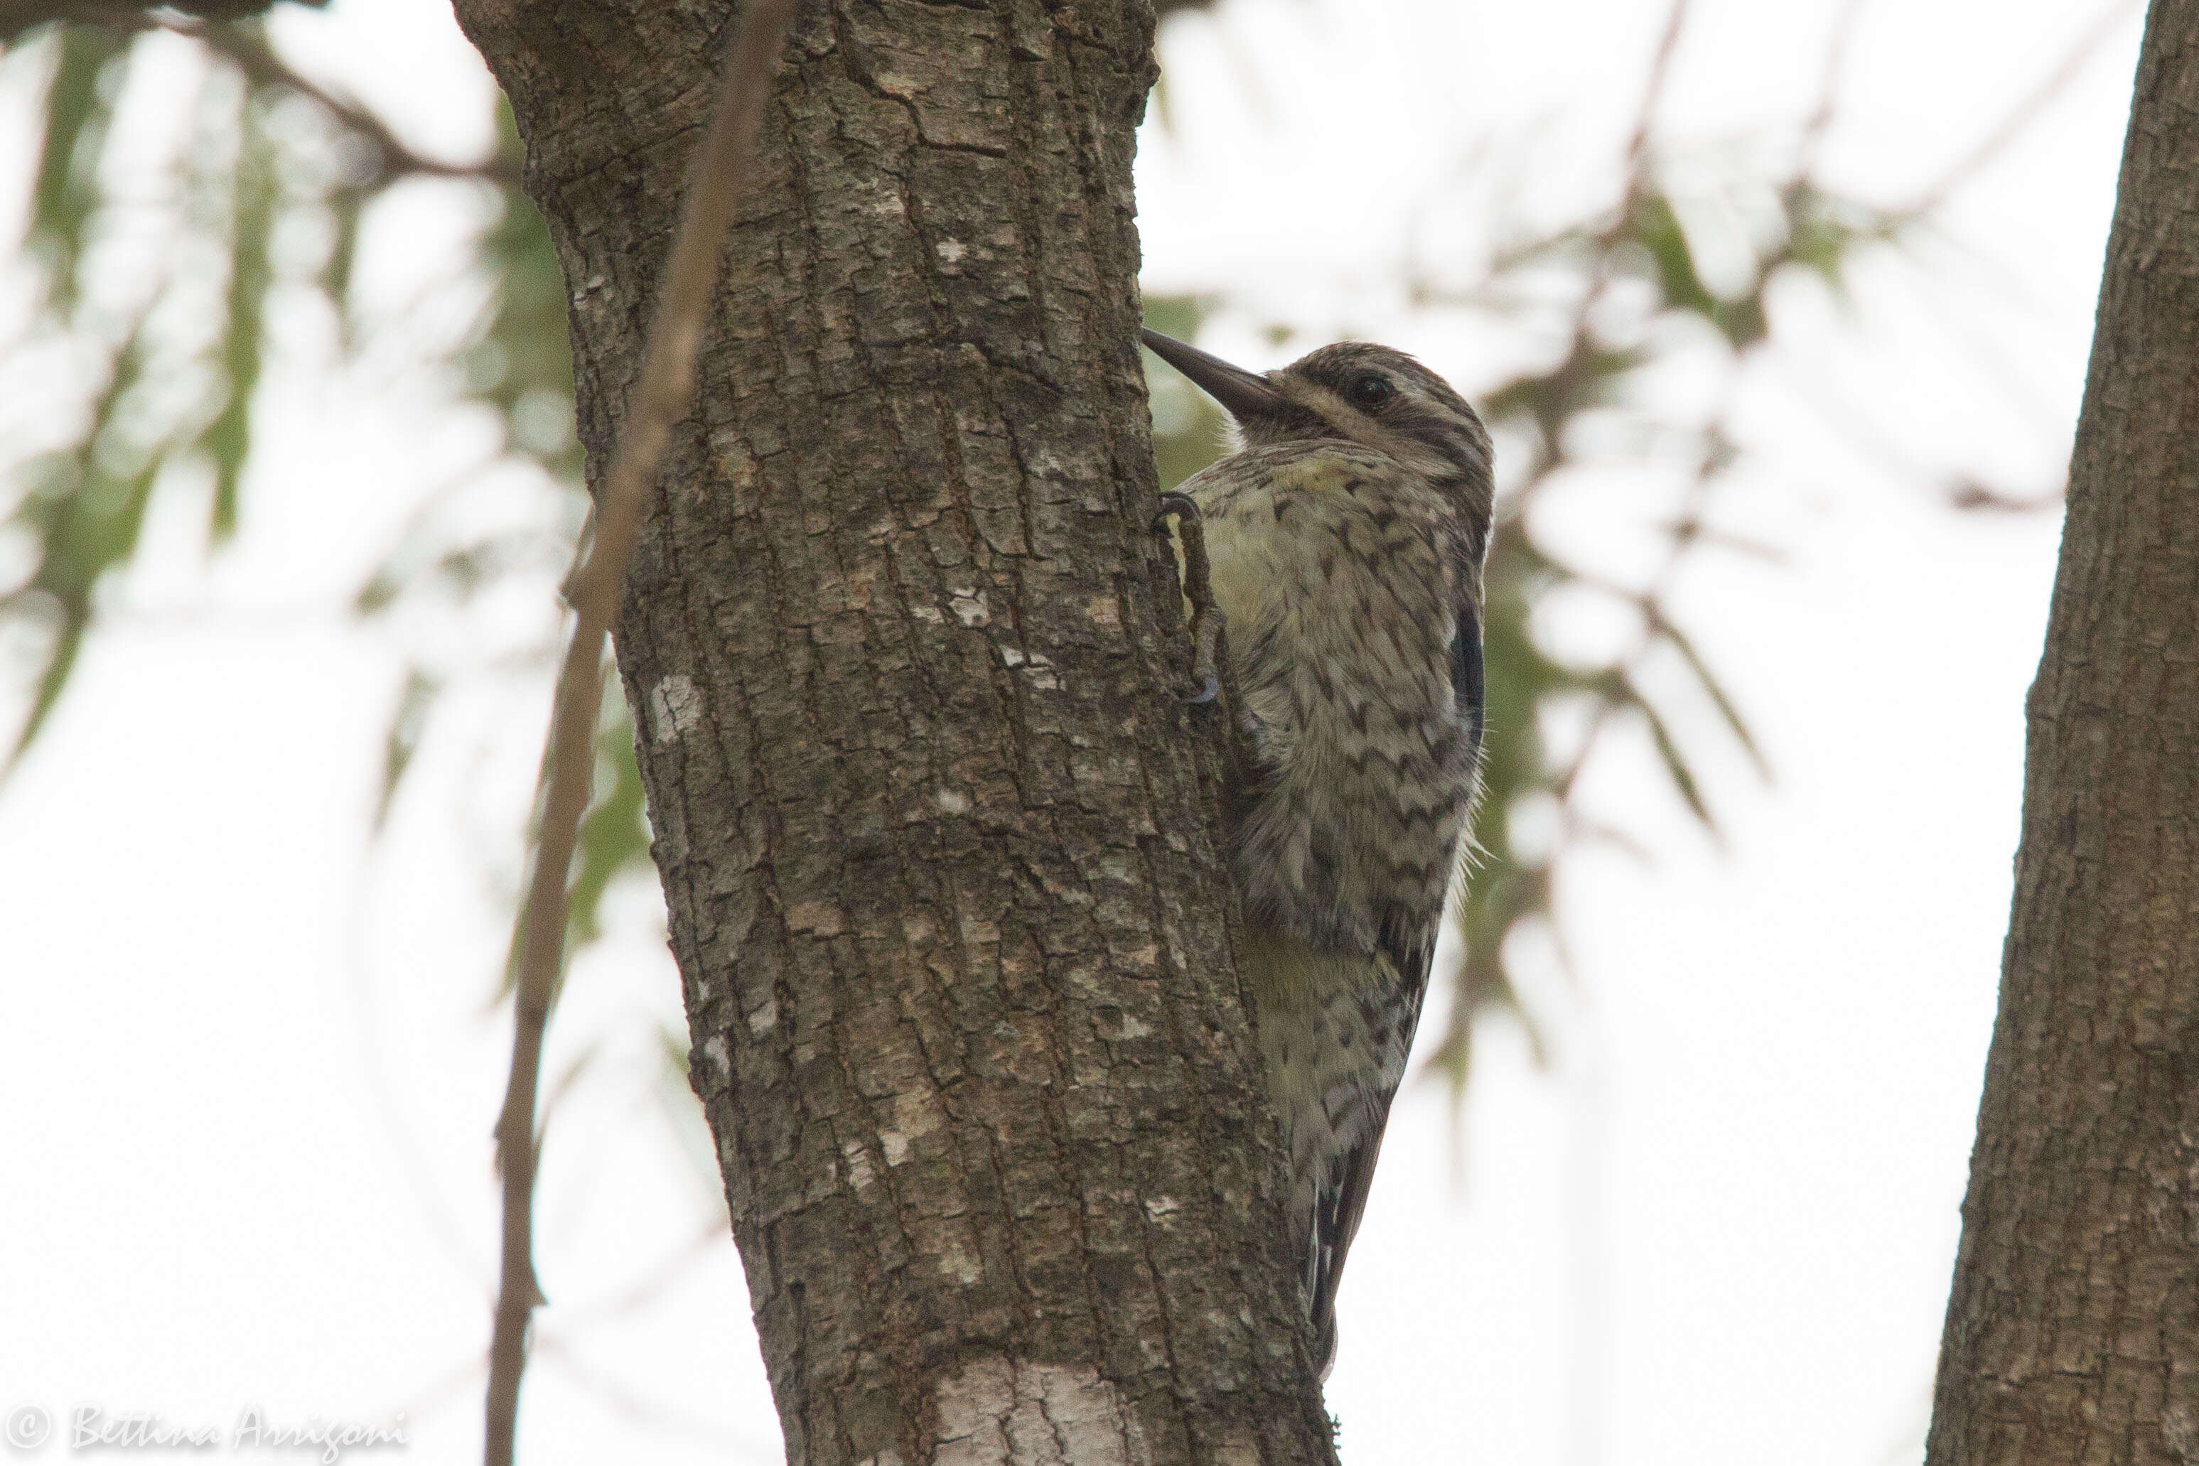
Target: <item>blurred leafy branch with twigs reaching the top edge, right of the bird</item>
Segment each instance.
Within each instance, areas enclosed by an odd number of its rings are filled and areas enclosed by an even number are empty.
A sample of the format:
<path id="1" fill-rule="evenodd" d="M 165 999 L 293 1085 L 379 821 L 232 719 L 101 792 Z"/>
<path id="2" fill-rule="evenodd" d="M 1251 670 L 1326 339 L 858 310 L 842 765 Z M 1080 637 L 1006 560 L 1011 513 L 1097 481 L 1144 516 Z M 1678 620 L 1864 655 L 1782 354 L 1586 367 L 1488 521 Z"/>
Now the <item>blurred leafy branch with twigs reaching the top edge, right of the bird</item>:
<path id="1" fill-rule="evenodd" d="M 1502 244 L 1487 270 L 1462 281 L 1443 279 L 1421 264 L 1410 266 L 1407 299 L 1416 306 L 1498 312 L 1522 321 L 1550 314 L 1555 360 L 1520 371 L 1484 393 L 1493 426 L 1520 433 L 1526 451 L 1515 488 L 1504 501 L 1504 523 L 1489 565 L 1491 701 L 1511 708 L 1495 719 L 1487 741 L 1487 787 L 1476 844 L 1482 866 L 1460 901 L 1467 963 L 1458 1002 L 1436 1066 L 1456 1084 L 1465 1081 L 1471 1029 L 1478 1011 L 1500 1002 L 1520 1011 L 1502 949 L 1531 921 L 1541 921 L 1550 952 L 1566 963 L 1563 928 L 1555 912 L 1557 870 L 1563 857 L 1590 844 L 1638 844 L 1590 809 L 1585 771 L 1610 734 L 1625 725 L 1643 736 L 1662 767 L 1673 796 L 1715 842 L 1722 822 L 1700 778 L 1704 767 L 1693 723 L 1676 721 L 1669 695 L 1700 706 L 1706 728 L 1722 730 L 1759 778 L 1770 767 L 1748 719 L 1724 677 L 1676 611 L 1691 556 L 1702 547 L 1764 554 L 1711 523 L 1717 488 L 1750 451 L 1737 440 L 1733 404 L 1744 371 L 1775 356 L 1772 284 L 1781 275 L 1814 275 L 1836 297 L 1845 295 L 1852 259 L 1871 246 L 1911 237 L 1924 213 L 1951 187 L 2010 145 L 2069 81 L 2082 64 L 2129 20 L 2135 0 L 2115 0 L 2049 77 L 2005 119 L 1986 132 L 1940 187 L 1907 207 L 1880 207 L 1845 198 L 1816 178 L 1819 152 L 1836 119 L 1841 75 L 1856 26 L 1849 0 L 1832 24 L 1819 95 L 1801 114 L 1788 163 L 1770 178 L 1728 174 L 1706 193 L 1689 182 L 1702 176 L 1693 160 L 1676 158 L 1658 145 L 1656 114 L 1687 20 L 1684 0 L 1673 4 L 1654 59 L 1640 108 L 1623 145 L 1623 187 L 1610 213 L 1524 244 Z M 1720 275 L 1709 270 L 1711 235 L 1722 235 Z M 1733 270 L 1742 251 L 1744 270 Z M 1737 277 L 1735 277 L 1737 275 Z M 1557 308 L 1552 312 L 1552 308 Z M 1676 330 L 1678 323 L 1689 330 Z M 1706 330 L 1702 330 L 1706 327 Z M 1698 363 L 1704 345 L 1720 354 L 1722 385 L 1700 411 L 1658 409 L 1638 382 L 1665 363 Z M 1695 369 L 1693 365 L 1689 369 Z M 1810 393 L 1805 393 L 1808 398 Z M 1865 413 L 1845 411 L 1849 435 Z M 1612 429 L 1643 448 L 1621 448 L 1623 457 L 1656 444 L 1656 459 L 1680 462 L 1680 503 L 1662 517 L 1654 534 L 1662 538 L 1658 563 L 1640 580 L 1618 582 L 1577 569 L 1541 547 L 1533 532 L 1533 506 L 1561 479 L 1599 466 L 1599 429 Z M 1915 464 L 1898 464 L 1904 477 L 1929 477 L 1948 503 L 1973 510 L 2019 512 L 2041 501 L 2010 495 L 1977 477 L 1924 475 Z M 1623 604 L 1636 624 L 1625 644 L 1596 666 L 1577 668 L 1552 657 L 1531 633 L 1531 620 L 1555 593 L 1590 589 Z M 1550 749 L 1537 728 L 1550 710 L 1566 745 Z M 1713 734 L 1715 736 L 1715 734 Z M 1513 815 L 1526 813 L 1520 831 Z M 1522 1018 L 1526 1013 L 1522 1011 Z M 1533 1040 L 1531 1031 L 1531 1040 Z"/>

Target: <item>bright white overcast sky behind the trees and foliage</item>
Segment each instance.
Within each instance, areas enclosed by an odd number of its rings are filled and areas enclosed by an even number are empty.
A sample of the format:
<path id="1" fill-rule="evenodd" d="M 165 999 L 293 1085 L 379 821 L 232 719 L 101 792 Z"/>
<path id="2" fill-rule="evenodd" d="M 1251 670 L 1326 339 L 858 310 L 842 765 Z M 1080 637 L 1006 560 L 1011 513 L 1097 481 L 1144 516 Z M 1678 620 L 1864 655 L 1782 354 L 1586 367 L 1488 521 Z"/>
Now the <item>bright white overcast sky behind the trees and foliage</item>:
<path id="1" fill-rule="evenodd" d="M 1869 4 L 1827 171 L 1911 196 L 2100 13 Z M 1830 15 L 1698 4 L 1662 134 L 1792 127 Z M 1209 336 L 1247 365 L 1286 354 L 1253 330 L 1284 314 L 1487 385 L 1489 341 L 1401 319 L 1403 226 L 1478 143 L 1541 215 L 1607 198 L 1660 24 L 1623 0 L 1234 0 L 1172 24 L 1172 125 L 1148 127 L 1139 165 L 1148 286 L 1251 301 Z M 422 149 L 486 145 L 486 77 L 431 0 L 339 0 L 275 35 Z M 1805 400 L 1838 385 L 1843 411 L 1933 468 L 2056 479 L 2135 44 L 2131 13 L 1955 196 L 1968 253 L 1869 266 L 1845 321 L 1808 292 L 1781 314 L 1794 345 L 1742 411 L 1766 470 L 1733 521 L 1792 565 L 1706 554 L 1684 596 L 1777 785 L 1739 758 L 1713 774 L 1720 853 L 1647 752 L 1621 741 L 1596 767 L 1599 807 L 1658 864 L 1570 866 L 1581 989 L 1526 963 L 1552 1070 L 1489 1022 L 1462 1125 L 1436 1086 L 1399 1103 L 1328 1387 L 1346 1462 L 1915 1459 L 2058 521 L 1937 508 Z M 0 132 L 0 158 L 20 156 Z M 409 189 L 361 288 L 402 301 L 433 277 L 462 198 Z M 310 323 L 286 330 L 310 358 Z M 361 629 L 345 607 L 484 442 L 429 387 L 363 378 L 270 385 L 242 541 L 200 574 L 191 508 L 169 506 L 0 791 L 0 1409 L 407 1411 L 407 1459 L 479 1455 L 508 1057 L 488 996 L 548 684 L 453 710 L 369 855 L 380 730 L 407 651 L 438 631 Z M 1614 492 L 1568 490 L 1552 534 L 1627 563 Z M 510 642 L 548 629 L 543 607 L 497 615 Z M 1585 613 L 1550 631 L 1603 635 Z M 545 1152 L 537 1464 L 778 1455 L 717 1178 L 649 1048 L 677 1022 L 658 921 L 651 890 L 614 899 L 552 1033 L 552 1079 L 603 1053 Z"/>

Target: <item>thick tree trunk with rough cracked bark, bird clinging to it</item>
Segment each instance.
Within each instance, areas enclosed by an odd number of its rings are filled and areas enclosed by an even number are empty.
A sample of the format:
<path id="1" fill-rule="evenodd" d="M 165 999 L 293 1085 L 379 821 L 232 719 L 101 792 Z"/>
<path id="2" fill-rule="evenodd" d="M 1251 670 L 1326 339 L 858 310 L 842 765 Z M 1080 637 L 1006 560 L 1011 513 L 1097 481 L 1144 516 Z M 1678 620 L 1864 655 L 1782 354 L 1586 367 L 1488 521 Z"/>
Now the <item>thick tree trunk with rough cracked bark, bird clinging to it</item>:
<path id="1" fill-rule="evenodd" d="M 460 0 L 600 473 L 726 4 Z M 792 1462 L 1330 1462 L 1157 554 L 1141 0 L 814 0 L 618 624 Z"/>

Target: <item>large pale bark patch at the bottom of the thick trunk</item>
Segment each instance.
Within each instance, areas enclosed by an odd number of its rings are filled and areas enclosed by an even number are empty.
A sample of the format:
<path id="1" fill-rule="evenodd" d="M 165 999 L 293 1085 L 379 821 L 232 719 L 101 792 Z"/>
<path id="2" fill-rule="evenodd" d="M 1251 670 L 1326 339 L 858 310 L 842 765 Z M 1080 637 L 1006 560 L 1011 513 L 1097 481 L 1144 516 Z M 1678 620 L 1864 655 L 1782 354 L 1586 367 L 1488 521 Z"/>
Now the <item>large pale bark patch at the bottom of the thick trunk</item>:
<path id="1" fill-rule="evenodd" d="M 1084 1365 L 985 1358 L 939 1382 L 939 1466 L 1148 1466 L 1121 1393 Z M 1234 1459 L 1234 1457 L 1231 1457 Z M 1249 1462 L 1258 1462 L 1258 1451 Z"/>

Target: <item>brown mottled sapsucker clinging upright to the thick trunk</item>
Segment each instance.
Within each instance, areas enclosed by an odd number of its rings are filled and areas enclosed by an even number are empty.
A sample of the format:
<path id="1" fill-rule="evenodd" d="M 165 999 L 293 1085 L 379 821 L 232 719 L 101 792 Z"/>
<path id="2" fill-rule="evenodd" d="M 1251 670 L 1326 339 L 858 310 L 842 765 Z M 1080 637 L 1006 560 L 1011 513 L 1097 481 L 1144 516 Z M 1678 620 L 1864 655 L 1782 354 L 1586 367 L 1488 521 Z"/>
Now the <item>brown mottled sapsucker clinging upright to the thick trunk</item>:
<path id="1" fill-rule="evenodd" d="M 1174 503 L 1194 506 L 1251 736 L 1227 800 L 1240 971 L 1326 1378 L 1476 791 L 1489 431 L 1390 347 L 1346 341 L 1258 376 L 1157 332 L 1146 345 L 1242 435 Z"/>

